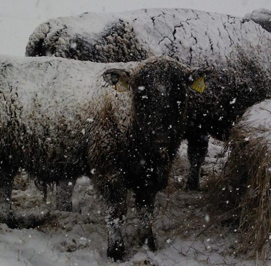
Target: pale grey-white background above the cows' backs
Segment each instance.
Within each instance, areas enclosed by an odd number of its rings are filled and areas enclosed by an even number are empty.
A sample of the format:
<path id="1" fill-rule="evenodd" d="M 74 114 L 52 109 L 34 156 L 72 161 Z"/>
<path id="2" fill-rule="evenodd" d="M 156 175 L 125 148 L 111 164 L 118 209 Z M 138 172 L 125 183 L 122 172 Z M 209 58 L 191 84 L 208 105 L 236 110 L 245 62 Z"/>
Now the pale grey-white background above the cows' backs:
<path id="1" fill-rule="evenodd" d="M 0 0 L 0 54 L 24 55 L 29 35 L 49 18 L 151 7 L 194 8 L 243 16 L 253 9 L 271 9 L 271 0 Z"/>

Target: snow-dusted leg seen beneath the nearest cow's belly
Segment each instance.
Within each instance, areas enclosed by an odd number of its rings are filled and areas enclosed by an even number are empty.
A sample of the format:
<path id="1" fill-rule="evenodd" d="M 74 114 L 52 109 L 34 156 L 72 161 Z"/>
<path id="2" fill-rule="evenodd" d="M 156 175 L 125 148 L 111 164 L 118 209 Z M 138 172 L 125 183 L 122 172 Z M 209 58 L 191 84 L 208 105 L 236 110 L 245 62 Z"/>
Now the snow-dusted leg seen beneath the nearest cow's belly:
<path id="1" fill-rule="evenodd" d="M 72 193 L 76 178 L 61 180 L 57 183 L 56 208 L 61 211 L 72 211 Z"/>

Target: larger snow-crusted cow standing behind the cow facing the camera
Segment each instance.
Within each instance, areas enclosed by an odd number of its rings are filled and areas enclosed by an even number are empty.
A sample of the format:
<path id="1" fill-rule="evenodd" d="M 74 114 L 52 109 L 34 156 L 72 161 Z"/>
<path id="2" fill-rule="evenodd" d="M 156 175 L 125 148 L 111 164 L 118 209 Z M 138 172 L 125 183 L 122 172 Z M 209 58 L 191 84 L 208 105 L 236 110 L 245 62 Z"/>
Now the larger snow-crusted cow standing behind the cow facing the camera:
<path id="1" fill-rule="evenodd" d="M 30 36 L 26 55 L 95 62 L 169 55 L 211 69 L 203 71 L 211 75 L 211 84 L 208 80 L 188 106 L 189 189 L 199 188 L 208 136 L 227 135 L 237 116 L 270 91 L 270 33 L 253 21 L 205 11 L 142 9 L 51 19 Z"/>

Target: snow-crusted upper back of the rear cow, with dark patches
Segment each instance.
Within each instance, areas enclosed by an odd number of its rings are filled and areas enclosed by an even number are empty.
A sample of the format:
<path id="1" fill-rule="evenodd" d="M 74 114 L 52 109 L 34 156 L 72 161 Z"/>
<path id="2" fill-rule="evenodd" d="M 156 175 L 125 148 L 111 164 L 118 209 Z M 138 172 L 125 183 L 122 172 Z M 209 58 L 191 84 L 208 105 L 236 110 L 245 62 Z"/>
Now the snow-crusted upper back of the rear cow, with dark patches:
<path id="1" fill-rule="evenodd" d="M 199 10 L 90 12 L 40 24 L 29 38 L 26 55 L 54 54 L 102 63 L 168 55 L 201 66 L 234 59 L 237 48 L 255 54 L 255 49 L 270 47 L 268 39 L 269 33 L 253 21 Z"/>

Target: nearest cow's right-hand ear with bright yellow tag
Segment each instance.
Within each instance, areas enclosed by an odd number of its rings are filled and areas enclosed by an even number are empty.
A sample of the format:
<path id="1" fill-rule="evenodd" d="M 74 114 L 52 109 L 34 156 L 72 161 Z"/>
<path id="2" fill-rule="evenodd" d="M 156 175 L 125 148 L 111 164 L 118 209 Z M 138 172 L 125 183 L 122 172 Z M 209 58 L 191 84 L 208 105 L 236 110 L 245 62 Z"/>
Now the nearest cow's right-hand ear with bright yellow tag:
<path id="1" fill-rule="evenodd" d="M 204 67 L 190 69 L 186 78 L 189 87 L 194 91 L 203 93 L 206 88 L 205 78 L 209 71 L 210 68 Z"/>

